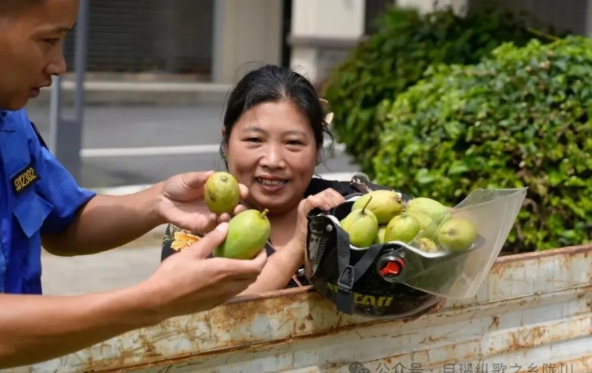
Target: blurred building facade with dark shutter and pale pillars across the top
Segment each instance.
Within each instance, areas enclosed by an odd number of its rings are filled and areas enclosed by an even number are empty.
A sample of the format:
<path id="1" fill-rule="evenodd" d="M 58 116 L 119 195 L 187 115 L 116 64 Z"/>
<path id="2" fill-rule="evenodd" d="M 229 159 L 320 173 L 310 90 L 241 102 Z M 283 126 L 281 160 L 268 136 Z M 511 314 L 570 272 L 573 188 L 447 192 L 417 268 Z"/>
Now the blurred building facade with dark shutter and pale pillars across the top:
<path id="1" fill-rule="evenodd" d="M 424 11 L 479 0 L 100 0 L 90 1 L 88 72 L 147 73 L 235 83 L 264 63 L 291 65 L 320 83 L 390 4 Z M 592 0 L 490 0 L 590 35 Z M 74 33 L 65 41 L 74 69 Z"/>

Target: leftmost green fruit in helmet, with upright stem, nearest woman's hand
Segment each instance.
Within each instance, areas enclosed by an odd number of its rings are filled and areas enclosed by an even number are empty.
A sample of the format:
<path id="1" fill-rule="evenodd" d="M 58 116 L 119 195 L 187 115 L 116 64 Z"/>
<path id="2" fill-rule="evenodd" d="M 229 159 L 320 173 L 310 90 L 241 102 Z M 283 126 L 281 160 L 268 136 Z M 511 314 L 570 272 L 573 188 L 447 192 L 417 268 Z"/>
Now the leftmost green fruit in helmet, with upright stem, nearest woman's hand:
<path id="1" fill-rule="evenodd" d="M 371 198 L 365 206 L 351 211 L 339 222 L 339 225 L 349 234 L 349 242 L 355 247 L 369 247 L 378 235 L 378 219 L 366 208 L 370 201 Z"/>

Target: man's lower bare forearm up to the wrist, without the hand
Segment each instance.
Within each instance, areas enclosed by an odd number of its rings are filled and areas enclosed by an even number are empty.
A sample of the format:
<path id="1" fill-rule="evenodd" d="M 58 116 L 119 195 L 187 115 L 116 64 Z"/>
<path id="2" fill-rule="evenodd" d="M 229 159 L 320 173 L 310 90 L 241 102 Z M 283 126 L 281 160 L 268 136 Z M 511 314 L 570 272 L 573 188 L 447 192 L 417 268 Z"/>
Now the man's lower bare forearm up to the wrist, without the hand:
<path id="1" fill-rule="evenodd" d="M 0 368 L 78 351 L 162 320 L 140 286 L 76 297 L 0 294 Z"/>

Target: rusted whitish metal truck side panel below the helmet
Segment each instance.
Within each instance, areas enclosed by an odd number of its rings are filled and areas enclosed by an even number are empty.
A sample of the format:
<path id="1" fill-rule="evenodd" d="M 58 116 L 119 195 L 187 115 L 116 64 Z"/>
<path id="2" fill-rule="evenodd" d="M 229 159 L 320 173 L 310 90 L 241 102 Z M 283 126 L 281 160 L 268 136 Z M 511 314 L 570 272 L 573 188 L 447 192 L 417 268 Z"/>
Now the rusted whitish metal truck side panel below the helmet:
<path id="1" fill-rule="evenodd" d="M 415 320 L 283 290 L 0 372 L 590 373 L 591 258 L 592 246 L 498 258 L 475 297 Z"/>

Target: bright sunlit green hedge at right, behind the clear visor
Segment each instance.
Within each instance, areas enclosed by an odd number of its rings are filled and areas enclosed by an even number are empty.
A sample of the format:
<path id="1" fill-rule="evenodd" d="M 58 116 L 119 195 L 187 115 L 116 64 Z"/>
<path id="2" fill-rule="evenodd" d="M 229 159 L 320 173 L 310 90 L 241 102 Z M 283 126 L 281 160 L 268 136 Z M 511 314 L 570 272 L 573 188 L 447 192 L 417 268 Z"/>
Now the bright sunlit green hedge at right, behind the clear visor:
<path id="1" fill-rule="evenodd" d="M 509 247 L 590 242 L 591 76 L 592 41 L 579 37 L 433 67 L 383 107 L 376 180 L 449 205 L 474 188 L 527 186 Z"/>

